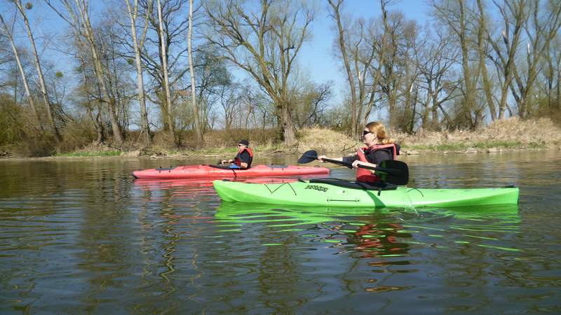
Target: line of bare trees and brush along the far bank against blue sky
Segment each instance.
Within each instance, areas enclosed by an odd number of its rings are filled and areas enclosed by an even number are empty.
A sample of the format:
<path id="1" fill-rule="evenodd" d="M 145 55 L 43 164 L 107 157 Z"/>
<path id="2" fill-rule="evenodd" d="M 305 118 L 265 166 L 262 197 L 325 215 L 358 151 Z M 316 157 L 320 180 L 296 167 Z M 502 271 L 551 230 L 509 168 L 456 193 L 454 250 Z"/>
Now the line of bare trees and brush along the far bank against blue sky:
<path id="1" fill-rule="evenodd" d="M 561 1 L 429 0 L 426 25 L 391 0 L 371 20 L 344 0 L 195 2 L 2 3 L 0 148 L 200 147 L 219 129 L 292 144 L 302 127 L 356 136 L 374 117 L 409 134 L 561 118 Z M 298 62 L 320 9 L 346 82 L 341 104 L 342 87 Z M 64 36 L 46 33 L 47 12 Z"/>

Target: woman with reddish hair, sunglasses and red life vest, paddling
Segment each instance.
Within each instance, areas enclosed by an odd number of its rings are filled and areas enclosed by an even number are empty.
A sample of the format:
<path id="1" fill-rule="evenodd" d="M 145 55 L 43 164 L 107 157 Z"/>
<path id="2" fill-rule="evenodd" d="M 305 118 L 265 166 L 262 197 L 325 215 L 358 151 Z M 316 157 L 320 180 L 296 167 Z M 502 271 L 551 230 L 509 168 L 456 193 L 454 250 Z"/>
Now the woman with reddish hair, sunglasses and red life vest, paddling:
<path id="1" fill-rule="evenodd" d="M 382 161 L 396 160 L 397 155 L 399 155 L 399 145 L 395 144 L 393 139 L 388 137 L 384 125 L 377 121 L 368 123 L 364 127 L 362 139 L 366 146 L 358 148 L 355 155 L 330 159 L 352 164 L 353 168 L 356 169 L 358 165 L 376 167 Z M 327 157 L 325 155 L 318 156 L 318 160 L 322 162 L 324 158 Z M 361 168 L 358 168 L 356 171 L 356 180 L 367 183 L 379 181 L 377 176 L 374 175 L 374 171 Z"/>

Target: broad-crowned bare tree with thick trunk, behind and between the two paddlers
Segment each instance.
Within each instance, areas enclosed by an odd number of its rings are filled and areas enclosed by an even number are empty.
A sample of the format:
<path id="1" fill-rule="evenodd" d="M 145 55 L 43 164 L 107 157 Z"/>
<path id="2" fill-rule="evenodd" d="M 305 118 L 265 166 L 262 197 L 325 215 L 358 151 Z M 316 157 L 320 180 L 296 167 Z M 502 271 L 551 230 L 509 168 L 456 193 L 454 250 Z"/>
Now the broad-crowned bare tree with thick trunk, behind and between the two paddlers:
<path id="1" fill-rule="evenodd" d="M 229 0 L 215 6 L 205 3 L 213 31 L 206 38 L 271 97 L 284 141 L 292 144 L 296 130 L 288 83 L 295 59 L 309 36 L 313 10 L 298 1 L 262 0 L 259 4 L 256 12 L 246 12 L 238 1 Z"/>

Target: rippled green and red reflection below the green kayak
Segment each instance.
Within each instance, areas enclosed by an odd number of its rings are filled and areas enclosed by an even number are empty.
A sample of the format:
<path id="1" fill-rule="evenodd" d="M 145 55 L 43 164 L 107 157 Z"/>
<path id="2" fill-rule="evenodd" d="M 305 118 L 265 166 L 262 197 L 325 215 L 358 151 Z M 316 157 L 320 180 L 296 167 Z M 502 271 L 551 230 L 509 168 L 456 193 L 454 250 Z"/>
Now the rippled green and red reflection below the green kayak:
<path id="1" fill-rule="evenodd" d="M 360 258 L 400 256 L 407 252 L 408 244 L 421 244 L 415 237 L 420 230 L 429 237 L 441 237 L 438 232 L 454 232 L 456 237 L 452 241 L 457 244 L 470 243 L 470 238 L 496 241 L 496 237 L 486 235 L 516 232 L 520 221 L 517 205 L 374 210 L 222 202 L 215 217 L 227 226 L 235 226 L 236 231 L 244 227 L 252 230 L 258 225 L 275 232 L 298 232 L 313 241 L 344 246 L 345 251 L 361 251 Z M 448 221 L 449 228 L 431 228 L 439 221 Z M 482 246 L 501 248 L 492 244 Z"/>

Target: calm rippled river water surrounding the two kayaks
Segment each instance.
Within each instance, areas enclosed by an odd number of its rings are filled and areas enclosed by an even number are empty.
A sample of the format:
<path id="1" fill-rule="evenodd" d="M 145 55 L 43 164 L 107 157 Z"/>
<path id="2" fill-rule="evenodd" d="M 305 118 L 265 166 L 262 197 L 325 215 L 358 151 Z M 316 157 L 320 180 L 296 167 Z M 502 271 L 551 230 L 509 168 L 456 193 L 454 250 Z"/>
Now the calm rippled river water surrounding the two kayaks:
<path id="1" fill-rule="evenodd" d="M 1 161 L 0 313 L 561 312 L 559 151 L 402 160 L 410 186 L 516 185 L 520 204 L 221 204 L 210 182 L 130 176 L 202 160 Z"/>

